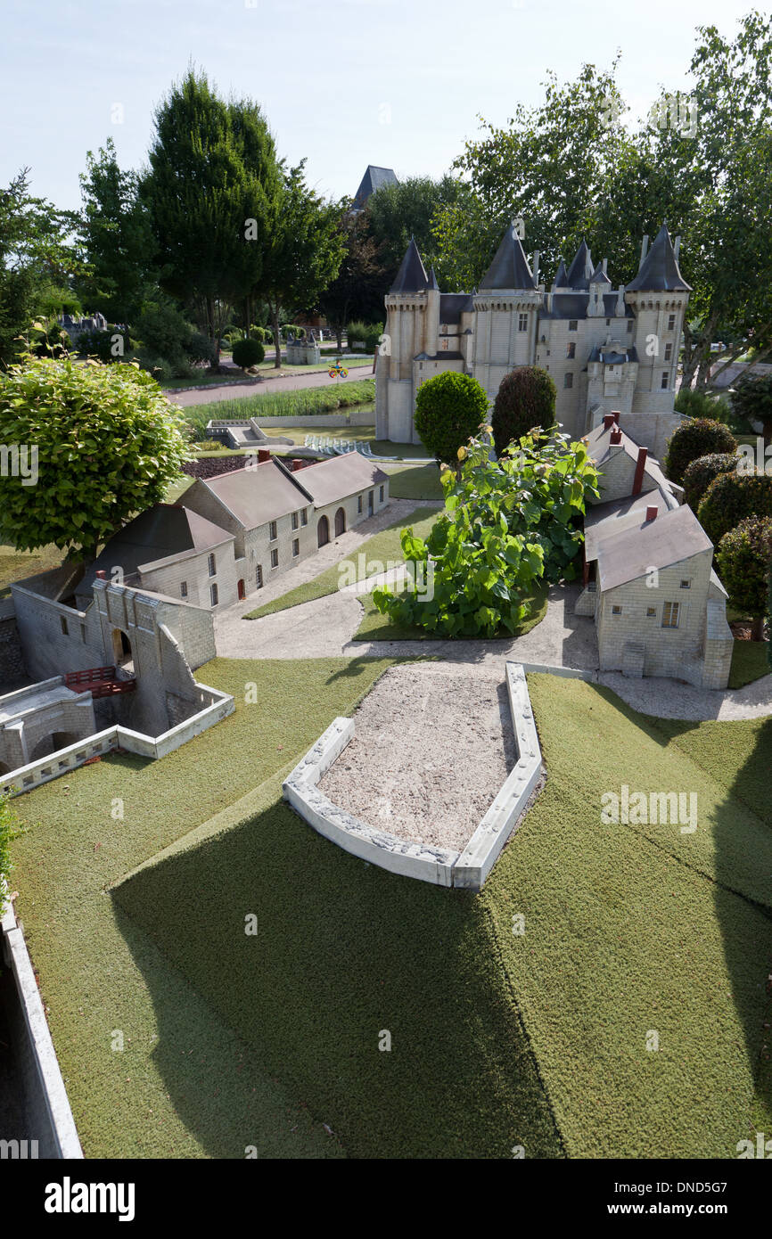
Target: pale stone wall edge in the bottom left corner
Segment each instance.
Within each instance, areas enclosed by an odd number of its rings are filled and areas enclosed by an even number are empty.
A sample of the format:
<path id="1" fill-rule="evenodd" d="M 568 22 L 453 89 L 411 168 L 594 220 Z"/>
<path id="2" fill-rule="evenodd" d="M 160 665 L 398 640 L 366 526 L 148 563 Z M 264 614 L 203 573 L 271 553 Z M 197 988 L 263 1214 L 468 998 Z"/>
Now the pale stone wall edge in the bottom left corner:
<path id="1" fill-rule="evenodd" d="M 5 891 L 0 891 L 0 902 Z M 43 1156 L 74 1158 L 83 1157 L 76 1123 L 69 1108 L 64 1080 L 56 1057 L 46 1012 L 37 989 L 37 980 L 27 952 L 21 926 L 16 921 L 14 906 L 9 901 L 0 921 L 2 955 L 14 975 L 19 1006 L 24 1016 L 31 1054 L 30 1078 L 27 1088 L 33 1090 L 35 1110 L 47 1130 L 35 1132 L 35 1139 L 43 1147 Z M 21 1023 L 19 1025 L 21 1028 Z M 20 1032 L 20 1036 L 24 1033 Z M 29 1059 L 27 1059 L 29 1061 Z M 35 1077 L 32 1079 L 31 1077 Z M 37 1100 L 40 1099 L 40 1100 Z M 46 1121 L 47 1120 L 47 1121 Z"/>

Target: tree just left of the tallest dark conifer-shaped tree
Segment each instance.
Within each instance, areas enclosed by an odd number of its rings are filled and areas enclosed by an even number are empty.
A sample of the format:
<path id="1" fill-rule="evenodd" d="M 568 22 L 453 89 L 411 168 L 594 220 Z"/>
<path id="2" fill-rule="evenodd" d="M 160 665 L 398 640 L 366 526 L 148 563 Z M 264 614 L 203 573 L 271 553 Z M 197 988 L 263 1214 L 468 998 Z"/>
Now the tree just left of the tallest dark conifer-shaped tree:
<path id="1" fill-rule="evenodd" d="M 88 263 L 78 282 L 81 300 L 109 322 L 134 323 L 155 290 L 155 243 L 139 177 L 121 171 L 112 138 L 97 155 L 88 151 L 81 196 L 79 242 Z"/>

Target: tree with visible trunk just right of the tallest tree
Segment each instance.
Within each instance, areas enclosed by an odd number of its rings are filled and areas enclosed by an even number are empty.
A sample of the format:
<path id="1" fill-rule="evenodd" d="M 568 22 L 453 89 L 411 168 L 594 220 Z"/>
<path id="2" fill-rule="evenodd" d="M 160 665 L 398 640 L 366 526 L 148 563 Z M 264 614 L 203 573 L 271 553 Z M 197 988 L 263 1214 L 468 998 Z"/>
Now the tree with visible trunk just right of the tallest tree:
<path id="1" fill-rule="evenodd" d="M 317 309 L 346 254 L 341 203 L 325 201 L 306 185 L 304 164 L 284 172 L 279 209 L 263 248 L 261 275 L 252 289 L 252 296 L 269 307 L 276 369 L 281 366 L 280 306 Z"/>

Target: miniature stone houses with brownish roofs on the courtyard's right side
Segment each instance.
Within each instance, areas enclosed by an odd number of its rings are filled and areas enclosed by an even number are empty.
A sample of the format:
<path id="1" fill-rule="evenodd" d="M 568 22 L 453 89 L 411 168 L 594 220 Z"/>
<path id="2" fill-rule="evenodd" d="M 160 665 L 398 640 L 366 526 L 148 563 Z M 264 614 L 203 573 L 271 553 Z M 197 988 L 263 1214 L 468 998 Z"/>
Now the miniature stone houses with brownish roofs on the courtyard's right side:
<path id="1" fill-rule="evenodd" d="M 713 543 L 683 488 L 618 422 L 618 410 L 605 414 L 585 439 L 601 498 L 585 515 L 575 611 L 595 618 L 601 670 L 725 689 L 734 638 Z"/>

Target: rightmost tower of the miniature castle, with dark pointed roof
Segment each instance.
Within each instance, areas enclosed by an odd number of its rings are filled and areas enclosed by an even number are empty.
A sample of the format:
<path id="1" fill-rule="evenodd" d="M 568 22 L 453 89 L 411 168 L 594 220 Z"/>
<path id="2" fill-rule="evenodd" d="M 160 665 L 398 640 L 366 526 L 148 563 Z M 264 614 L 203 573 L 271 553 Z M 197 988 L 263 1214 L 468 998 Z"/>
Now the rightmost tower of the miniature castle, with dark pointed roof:
<path id="1" fill-rule="evenodd" d="M 633 413 L 672 413 L 675 373 L 690 286 L 678 266 L 667 222 L 647 253 L 643 238 L 641 264 L 625 290 L 625 301 L 636 315 L 634 341 L 638 377 Z"/>

